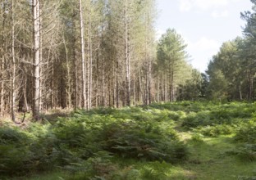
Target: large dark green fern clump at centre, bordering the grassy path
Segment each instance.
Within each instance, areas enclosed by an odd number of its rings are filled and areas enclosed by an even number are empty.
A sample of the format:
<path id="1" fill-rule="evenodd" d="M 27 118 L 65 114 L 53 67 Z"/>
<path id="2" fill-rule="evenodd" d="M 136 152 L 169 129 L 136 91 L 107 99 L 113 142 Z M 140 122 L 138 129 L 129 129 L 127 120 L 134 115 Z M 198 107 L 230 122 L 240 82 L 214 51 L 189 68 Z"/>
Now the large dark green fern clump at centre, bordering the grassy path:
<path id="1" fill-rule="evenodd" d="M 124 157 L 176 162 L 187 155 L 185 145 L 175 133 L 163 133 L 160 129 L 146 132 L 141 124 L 111 124 L 104 137 L 104 149 Z"/>

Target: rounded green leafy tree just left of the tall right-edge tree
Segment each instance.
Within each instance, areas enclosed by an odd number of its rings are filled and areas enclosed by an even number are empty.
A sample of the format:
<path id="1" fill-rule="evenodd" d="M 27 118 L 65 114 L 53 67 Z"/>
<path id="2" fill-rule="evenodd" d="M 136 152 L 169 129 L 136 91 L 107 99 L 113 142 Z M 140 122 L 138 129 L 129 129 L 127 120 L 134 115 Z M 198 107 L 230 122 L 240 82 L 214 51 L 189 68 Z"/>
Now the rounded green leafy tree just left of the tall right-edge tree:
<path id="1" fill-rule="evenodd" d="M 213 56 L 207 70 L 208 98 L 225 101 L 242 100 L 245 96 L 251 96 L 246 89 L 250 85 L 244 75 L 248 67 L 243 65 L 245 56 L 248 56 L 243 52 L 246 49 L 244 43 L 245 39 L 242 38 L 223 43 L 217 55 Z"/>

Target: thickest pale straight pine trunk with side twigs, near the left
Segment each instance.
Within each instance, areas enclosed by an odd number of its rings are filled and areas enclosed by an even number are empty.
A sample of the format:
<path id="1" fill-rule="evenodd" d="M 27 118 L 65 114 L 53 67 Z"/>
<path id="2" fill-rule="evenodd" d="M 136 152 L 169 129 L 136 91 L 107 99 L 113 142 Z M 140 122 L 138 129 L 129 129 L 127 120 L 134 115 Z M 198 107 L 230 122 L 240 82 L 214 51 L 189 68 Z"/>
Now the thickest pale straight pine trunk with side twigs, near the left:
<path id="1" fill-rule="evenodd" d="M 33 118 L 39 120 L 39 94 L 40 94 L 40 0 L 33 0 L 34 21 L 34 99 Z"/>

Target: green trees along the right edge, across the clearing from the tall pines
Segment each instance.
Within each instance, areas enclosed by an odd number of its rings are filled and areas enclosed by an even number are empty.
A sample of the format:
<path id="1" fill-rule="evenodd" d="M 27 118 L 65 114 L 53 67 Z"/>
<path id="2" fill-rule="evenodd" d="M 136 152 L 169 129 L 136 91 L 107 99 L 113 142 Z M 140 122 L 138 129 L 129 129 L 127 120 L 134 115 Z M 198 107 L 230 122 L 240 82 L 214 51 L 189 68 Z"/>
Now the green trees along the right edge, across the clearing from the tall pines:
<path id="1" fill-rule="evenodd" d="M 245 20 L 243 38 L 222 44 L 213 56 L 206 71 L 207 94 L 210 99 L 249 100 L 255 99 L 256 81 L 256 1 L 253 11 L 241 13 Z"/>

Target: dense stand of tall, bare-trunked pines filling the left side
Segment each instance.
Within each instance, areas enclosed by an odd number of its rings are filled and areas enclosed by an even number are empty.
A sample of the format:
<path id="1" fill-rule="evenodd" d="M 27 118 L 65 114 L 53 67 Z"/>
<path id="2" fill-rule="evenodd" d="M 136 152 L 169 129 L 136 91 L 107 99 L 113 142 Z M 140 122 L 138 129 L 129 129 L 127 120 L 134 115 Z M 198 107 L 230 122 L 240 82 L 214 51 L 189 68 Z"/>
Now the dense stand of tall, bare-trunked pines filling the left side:
<path id="1" fill-rule="evenodd" d="M 0 114 L 198 96 L 184 40 L 157 41 L 156 14 L 155 0 L 1 0 Z"/>

